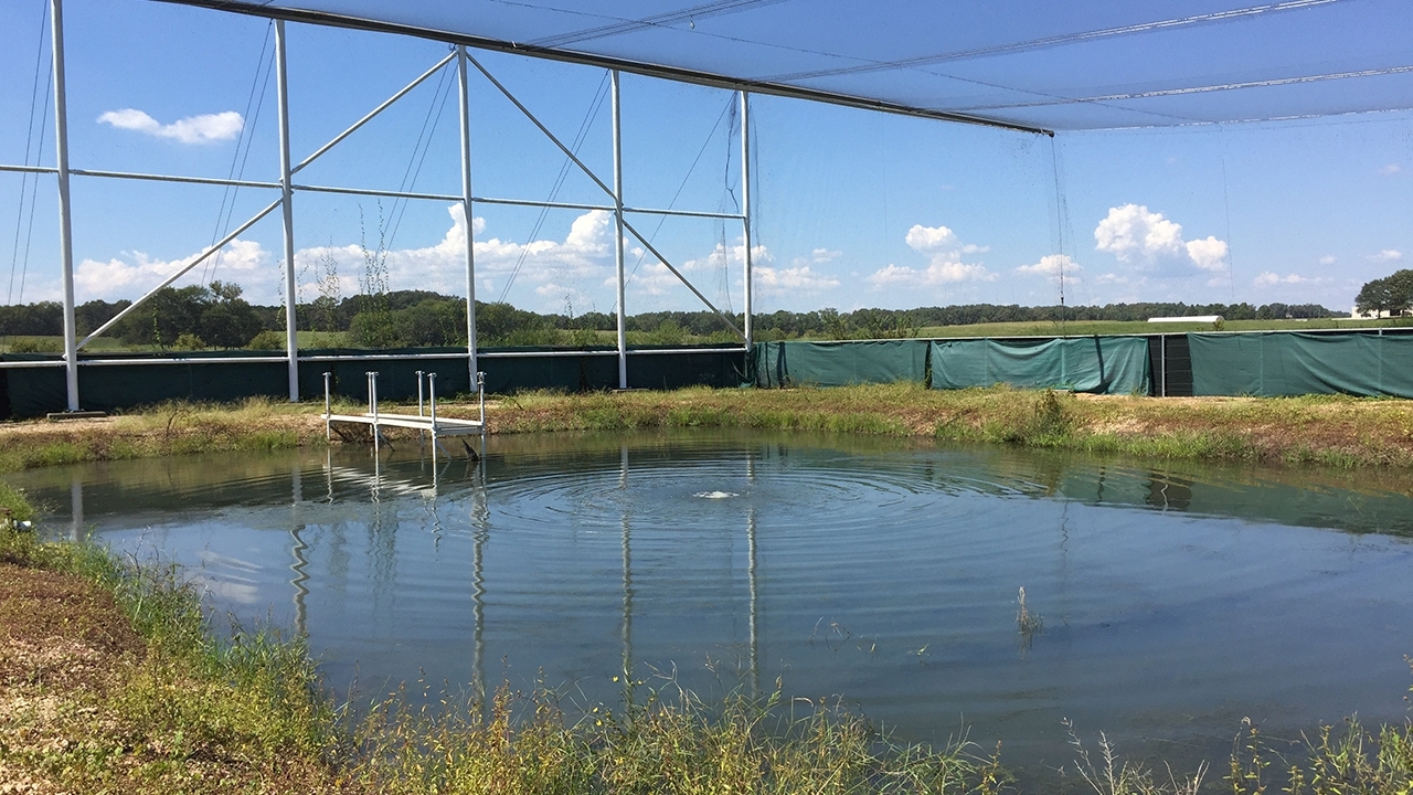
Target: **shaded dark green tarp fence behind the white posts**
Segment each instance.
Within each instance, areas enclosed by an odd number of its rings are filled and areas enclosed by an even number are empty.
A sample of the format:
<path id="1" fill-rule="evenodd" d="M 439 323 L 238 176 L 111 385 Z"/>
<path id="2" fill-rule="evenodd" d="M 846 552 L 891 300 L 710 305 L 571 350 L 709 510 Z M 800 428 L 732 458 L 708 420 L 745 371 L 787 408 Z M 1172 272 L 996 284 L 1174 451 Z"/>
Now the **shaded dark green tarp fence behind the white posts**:
<path id="1" fill-rule="evenodd" d="M 678 347 L 681 348 L 681 347 Z M 719 348 L 712 345 L 709 348 Z M 658 349 L 637 347 L 634 349 Z M 514 358 L 482 358 L 486 390 L 510 393 L 527 389 L 589 392 L 615 389 L 617 356 L 591 355 L 589 351 L 552 348 L 482 348 L 489 352 L 531 354 Z M 555 355 L 548 355 L 554 352 Z M 377 372 L 380 398 L 406 400 L 417 396 L 417 371 L 437 373 L 437 393 L 469 393 L 473 386 L 466 359 L 425 358 L 437 354 L 465 354 L 465 348 L 401 349 L 318 349 L 300 351 L 301 356 L 413 355 L 408 359 L 301 361 L 300 395 L 305 400 L 322 399 L 324 373 L 331 373 L 335 395 L 355 400 L 367 399 L 367 372 Z M 534 355 L 543 354 L 543 355 Z M 203 364 L 143 364 L 143 359 L 171 358 L 174 354 L 103 354 L 103 359 L 129 359 L 124 365 L 85 365 L 79 368 L 81 407 L 113 412 L 148 406 L 162 400 L 232 402 L 252 396 L 284 399 L 290 395 L 285 362 L 249 362 L 242 356 L 280 355 L 278 351 L 196 351 L 182 359 Z M 222 359 L 212 362 L 211 359 Z M 42 354 L 6 354 L 0 361 L 55 361 Z M 681 386 L 739 386 L 746 378 L 743 351 L 704 349 L 681 354 L 629 356 L 629 385 L 647 389 Z M 62 412 L 66 393 L 62 366 L 0 369 L 0 419 L 38 417 Z"/>

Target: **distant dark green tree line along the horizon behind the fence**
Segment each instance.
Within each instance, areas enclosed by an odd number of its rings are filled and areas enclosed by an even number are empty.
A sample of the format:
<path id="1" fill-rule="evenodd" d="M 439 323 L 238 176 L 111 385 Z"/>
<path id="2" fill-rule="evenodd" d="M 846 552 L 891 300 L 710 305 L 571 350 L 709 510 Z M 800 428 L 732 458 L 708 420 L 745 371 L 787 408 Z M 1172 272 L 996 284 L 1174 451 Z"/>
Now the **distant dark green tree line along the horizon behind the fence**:
<path id="1" fill-rule="evenodd" d="M 1413 272 L 1402 308 L 1413 298 Z M 1397 276 L 1397 274 L 1395 274 Z M 1393 277 L 1389 277 L 1393 279 Z M 1399 282 L 1403 284 L 1403 282 Z M 1366 286 L 1368 289 L 1368 286 Z M 1402 294 L 1402 293 L 1400 293 Z M 1364 296 L 1364 293 L 1361 293 Z M 130 301 L 88 301 L 75 308 L 78 332 L 86 335 L 127 308 Z M 1392 306 L 1392 304 L 1388 304 Z M 1318 304 L 1186 304 L 1133 303 L 1089 307 L 1022 307 L 1017 304 L 961 304 L 913 310 L 862 308 L 841 313 L 776 311 L 755 315 L 762 340 L 899 338 L 916 337 L 923 327 L 978 323 L 1136 321 L 1150 317 L 1219 314 L 1226 320 L 1277 320 L 1340 317 Z M 732 321 L 740 327 L 742 315 Z M 301 331 L 345 332 L 357 348 L 401 348 L 466 344 L 466 301 L 427 290 L 359 294 L 342 300 L 321 297 L 300 304 Z M 639 341 L 732 341 L 736 337 L 715 313 L 651 311 L 627 318 L 627 331 Z M 613 331 L 617 321 L 605 313 L 540 314 L 507 303 L 476 303 L 480 345 L 588 345 L 602 341 L 598 332 Z M 64 310 L 57 301 L 0 306 L 0 335 L 61 335 Z M 239 284 L 212 282 L 209 287 L 167 287 L 133 310 L 109 335 L 130 345 L 157 348 L 284 348 L 284 308 L 254 306 L 242 298 Z"/>

